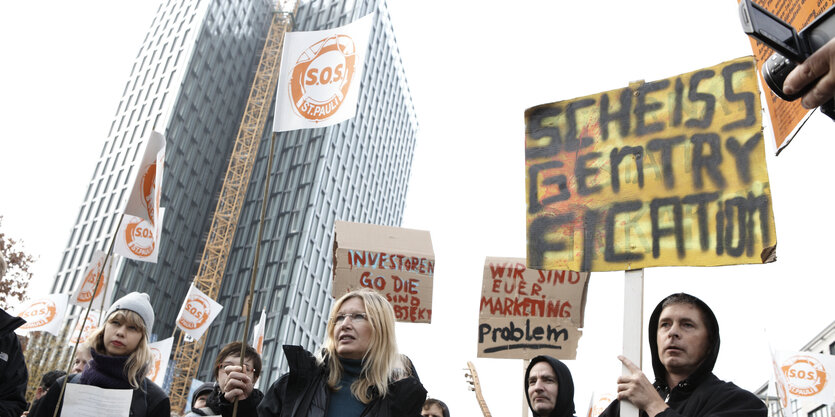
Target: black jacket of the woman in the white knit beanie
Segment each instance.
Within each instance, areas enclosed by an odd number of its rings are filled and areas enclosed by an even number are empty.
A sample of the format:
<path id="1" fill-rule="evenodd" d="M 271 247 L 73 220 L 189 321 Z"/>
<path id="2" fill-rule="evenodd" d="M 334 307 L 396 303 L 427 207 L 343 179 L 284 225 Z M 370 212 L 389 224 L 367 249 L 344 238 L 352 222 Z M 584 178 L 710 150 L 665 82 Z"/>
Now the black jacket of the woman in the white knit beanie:
<path id="1" fill-rule="evenodd" d="M 78 383 L 81 374 L 72 374 L 69 376 L 68 383 Z M 63 407 L 64 401 L 58 404 L 58 396 L 61 394 L 61 385 L 64 384 L 66 377 L 58 378 L 52 388 L 46 392 L 46 395 L 41 397 L 41 401 L 32 407 L 29 412 L 29 417 L 52 417 L 55 411 L 55 406 L 59 407 L 58 415 L 61 415 L 60 408 Z M 64 393 L 66 395 L 66 393 Z M 133 390 L 133 397 L 130 402 L 131 417 L 170 417 L 171 403 L 168 401 L 168 395 L 157 384 L 154 384 L 148 378 L 145 378 L 140 389 Z"/>

